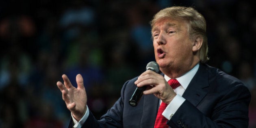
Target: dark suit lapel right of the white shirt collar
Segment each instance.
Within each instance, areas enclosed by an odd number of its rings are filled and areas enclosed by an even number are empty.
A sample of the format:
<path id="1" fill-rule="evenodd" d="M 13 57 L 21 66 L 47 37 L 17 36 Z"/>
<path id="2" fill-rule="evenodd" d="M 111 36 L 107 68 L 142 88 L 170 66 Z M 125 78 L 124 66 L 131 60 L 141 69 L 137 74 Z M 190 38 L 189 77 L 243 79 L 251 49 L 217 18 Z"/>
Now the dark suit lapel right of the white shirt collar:
<path id="1" fill-rule="evenodd" d="M 195 76 L 189 83 L 186 91 L 182 95 L 183 98 L 191 102 L 194 106 L 197 106 L 197 104 L 207 94 L 207 92 L 204 91 L 204 89 L 209 86 L 207 70 L 208 69 L 205 67 L 205 65 L 200 63 L 200 67 L 197 73 L 195 74 Z"/>

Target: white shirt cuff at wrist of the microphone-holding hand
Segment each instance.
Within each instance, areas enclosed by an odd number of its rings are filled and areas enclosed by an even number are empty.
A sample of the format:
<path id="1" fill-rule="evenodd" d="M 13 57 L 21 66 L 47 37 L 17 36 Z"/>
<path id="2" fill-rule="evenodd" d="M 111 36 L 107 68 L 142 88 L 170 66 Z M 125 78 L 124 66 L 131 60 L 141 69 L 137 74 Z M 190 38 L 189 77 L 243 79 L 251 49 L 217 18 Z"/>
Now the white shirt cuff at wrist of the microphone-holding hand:
<path id="1" fill-rule="evenodd" d="M 174 99 L 170 102 L 170 104 L 168 104 L 168 106 L 165 108 L 165 111 L 163 111 L 162 115 L 168 120 L 170 120 L 184 101 L 185 99 L 177 94 L 174 97 Z"/>

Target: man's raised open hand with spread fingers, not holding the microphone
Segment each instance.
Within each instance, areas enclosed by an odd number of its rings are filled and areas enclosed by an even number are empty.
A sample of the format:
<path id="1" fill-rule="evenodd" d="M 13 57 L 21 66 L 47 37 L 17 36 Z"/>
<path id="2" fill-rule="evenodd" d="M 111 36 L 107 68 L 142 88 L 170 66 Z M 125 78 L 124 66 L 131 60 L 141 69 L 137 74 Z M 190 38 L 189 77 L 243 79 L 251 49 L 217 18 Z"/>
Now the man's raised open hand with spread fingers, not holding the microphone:
<path id="1" fill-rule="evenodd" d="M 62 75 L 62 78 L 64 84 L 60 81 L 57 82 L 57 86 L 62 93 L 62 99 L 65 101 L 67 109 L 72 112 L 73 117 L 79 121 L 87 109 L 87 95 L 83 78 L 80 74 L 76 76 L 77 88 L 71 84 L 65 74 Z"/>

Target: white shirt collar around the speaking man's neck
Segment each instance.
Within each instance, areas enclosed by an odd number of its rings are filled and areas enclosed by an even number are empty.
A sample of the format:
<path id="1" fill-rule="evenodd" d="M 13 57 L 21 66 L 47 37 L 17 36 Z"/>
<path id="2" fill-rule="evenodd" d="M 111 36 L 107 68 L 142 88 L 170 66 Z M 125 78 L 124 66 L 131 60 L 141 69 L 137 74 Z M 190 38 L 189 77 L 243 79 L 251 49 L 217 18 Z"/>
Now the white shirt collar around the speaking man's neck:
<path id="1" fill-rule="evenodd" d="M 184 89 L 187 89 L 187 87 L 189 86 L 190 81 L 195 76 L 198 69 L 199 69 L 199 63 L 197 63 L 197 65 L 195 65 L 195 67 L 193 67 L 189 72 L 185 73 L 183 76 L 180 76 L 180 77 L 176 78 L 178 80 L 178 82 L 180 82 L 180 85 Z M 171 79 L 167 75 L 165 75 L 164 77 L 165 77 L 166 81 Z"/>

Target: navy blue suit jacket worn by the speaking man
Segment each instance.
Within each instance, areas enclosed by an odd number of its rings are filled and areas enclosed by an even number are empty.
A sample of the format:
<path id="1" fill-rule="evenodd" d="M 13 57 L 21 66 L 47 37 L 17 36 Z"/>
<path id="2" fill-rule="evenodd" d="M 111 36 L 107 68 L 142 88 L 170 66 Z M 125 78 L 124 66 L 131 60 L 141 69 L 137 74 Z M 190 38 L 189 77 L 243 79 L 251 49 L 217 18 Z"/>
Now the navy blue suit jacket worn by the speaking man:
<path id="1" fill-rule="evenodd" d="M 143 95 L 136 107 L 130 106 L 135 80 L 124 84 L 121 97 L 100 120 L 90 112 L 82 128 L 154 128 L 159 99 Z M 248 127 L 249 90 L 219 69 L 200 63 L 182 97 L 185 102 L 167 122 L 171 128 Z"/>

